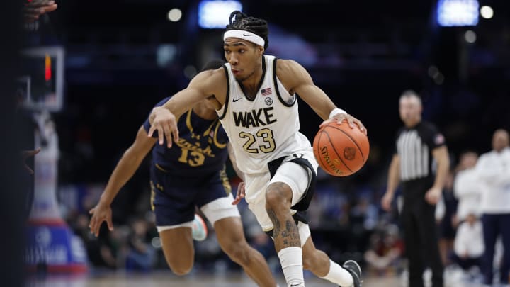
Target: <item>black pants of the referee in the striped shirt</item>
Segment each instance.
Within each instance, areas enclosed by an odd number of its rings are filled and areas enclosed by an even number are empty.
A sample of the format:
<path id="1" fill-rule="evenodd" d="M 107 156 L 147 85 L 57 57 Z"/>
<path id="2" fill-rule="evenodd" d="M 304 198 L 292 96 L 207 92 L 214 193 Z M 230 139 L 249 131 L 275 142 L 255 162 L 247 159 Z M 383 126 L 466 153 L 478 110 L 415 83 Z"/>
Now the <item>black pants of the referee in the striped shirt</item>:
<path id="1" fill-rule="evenodd" d="M 425 200 L 432 179 L 402 184 L 404 205 L 400 219 L 404 229 L 405 254 L 409 261 L 409 287 L 424 287 L 425 267 L 432 270 L 432 287 L 443 287 L 443 263 L 439 254 L 436 206 Z"/>

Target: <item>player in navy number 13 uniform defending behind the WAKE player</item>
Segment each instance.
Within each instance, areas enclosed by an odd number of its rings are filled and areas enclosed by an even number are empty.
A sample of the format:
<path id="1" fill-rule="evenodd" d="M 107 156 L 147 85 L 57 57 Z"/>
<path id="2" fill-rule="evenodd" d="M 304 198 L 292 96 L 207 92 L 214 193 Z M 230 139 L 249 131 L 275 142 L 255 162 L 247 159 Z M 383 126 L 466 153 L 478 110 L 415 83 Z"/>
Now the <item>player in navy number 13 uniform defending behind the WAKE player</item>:
<path id="1" fill-rule="evenodd" d="M 216 69 L 222 63 L 209 62 L 205 69 Z M 239 210 L 232 204 L 234 198 L 225 174 L 230 144 L 210 101 L 198 101 L 179 118 L 181 137 L 171 148 L 154 145 L 157 139 L 147 137 L 150 127 L 147 119 L 138 130 L 135 142 L 115 167 L 98 205 L 90 211 L 91 232 L 97 236 L 103 221 L 113 230 L 110 207 L 113 198 L 152 150 L 152 209 L 170 269 L 177 275 L 184 275 L 193 267 L 191 225 L 198 206 L 215 227 L 222 250 L 259 286 L 274 287 L 276 281 L 262 254 L 246 242 Z M 235 159 L 230 158 L 235 167 Z"/>

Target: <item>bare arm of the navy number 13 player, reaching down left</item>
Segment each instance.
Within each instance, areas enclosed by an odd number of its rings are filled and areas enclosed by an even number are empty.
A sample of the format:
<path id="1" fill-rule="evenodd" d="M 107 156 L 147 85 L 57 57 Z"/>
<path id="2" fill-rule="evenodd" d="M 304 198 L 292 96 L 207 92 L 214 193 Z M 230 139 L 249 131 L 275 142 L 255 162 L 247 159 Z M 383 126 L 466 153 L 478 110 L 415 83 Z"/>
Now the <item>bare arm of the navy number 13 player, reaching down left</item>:
<path id="1" fill-rule="evenodd" d="M 135 142 L 124 152 L 117 166 L 113 169 L 98 204 L 89 211 L 92 215 L 89 223 L 91 233 L 98 236 L 103 221 L 106 221 L 109 230 L 113 230 L 111 203 L 120 188 L 135 174 L 142 160 L 154 147 L 155 142 L 154 138 L 147 137 L 147 132 L 143 126 L 140 127 Z"/>

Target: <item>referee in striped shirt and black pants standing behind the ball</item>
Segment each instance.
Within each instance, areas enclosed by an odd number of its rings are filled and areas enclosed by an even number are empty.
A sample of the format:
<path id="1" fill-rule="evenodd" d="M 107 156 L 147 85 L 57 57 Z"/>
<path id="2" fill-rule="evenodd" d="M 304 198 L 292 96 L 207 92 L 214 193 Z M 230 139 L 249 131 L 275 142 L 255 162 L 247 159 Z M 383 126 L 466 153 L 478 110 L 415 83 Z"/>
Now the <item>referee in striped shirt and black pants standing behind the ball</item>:
<path id="1" fill-rule="evenodd" d="M 409 286 L 423 287 L 426 266 L 432 270 L 432 287 L 443 287 L 434 213 L 450 167 L 448 149 L 436 127 L 421 120 L 421 99 L 404 91 L 399 99 L 404 127 L 396 138 L 396 151 L 388 171 L 382 208 L 389 211 L 395 189 L 402 181 L 404 204 L 400 220 L 404 228 L 405 256 L 409 261 Z"/>

